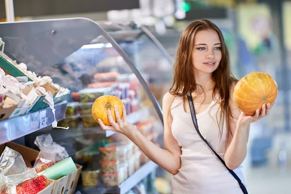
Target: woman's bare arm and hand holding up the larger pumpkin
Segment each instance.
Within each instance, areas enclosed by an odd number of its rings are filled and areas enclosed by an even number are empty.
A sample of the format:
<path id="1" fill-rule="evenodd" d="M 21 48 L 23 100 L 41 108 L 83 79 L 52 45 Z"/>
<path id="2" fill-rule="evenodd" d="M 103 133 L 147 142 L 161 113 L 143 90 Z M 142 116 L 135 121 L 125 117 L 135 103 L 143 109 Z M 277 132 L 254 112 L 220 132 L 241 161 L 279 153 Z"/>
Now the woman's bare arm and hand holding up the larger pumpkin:
<path id="1" fill-rule="evenodd" d="M 267 104 L 267 107 L 265 105 L 262 106 L 260 114 L 259 109 L 256 110 L 256 113 L 253 116 L 241 113 L 233 102 L 232 95 L 234 85 L 235 84 L 230 88 L 229 100 L 229 108 L 232 113 L 232 116 L 230 116 L 229 127 L 233 136 L 231 134 L 228 136 L 224 157 L 226 166 L 231 170 L 239 167 L 246 157 L 250 124 L 268 115 L 271 110 L 270 104 Z"/>

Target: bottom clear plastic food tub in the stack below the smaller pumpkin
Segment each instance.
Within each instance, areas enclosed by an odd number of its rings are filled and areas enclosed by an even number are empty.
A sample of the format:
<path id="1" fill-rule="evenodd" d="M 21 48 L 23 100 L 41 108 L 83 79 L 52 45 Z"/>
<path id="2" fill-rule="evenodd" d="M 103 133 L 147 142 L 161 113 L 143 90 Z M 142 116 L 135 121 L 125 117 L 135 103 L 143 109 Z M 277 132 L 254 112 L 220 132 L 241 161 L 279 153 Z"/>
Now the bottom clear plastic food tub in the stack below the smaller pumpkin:
<path id="1" fill-rule="evenodd" d="M 103 185 L 105 187 L 117 187 L 124 181 L 123 173 L 124 173 L 123 171 L 119 171 L 118 173 L 102 174 L 101 179 Z"/>

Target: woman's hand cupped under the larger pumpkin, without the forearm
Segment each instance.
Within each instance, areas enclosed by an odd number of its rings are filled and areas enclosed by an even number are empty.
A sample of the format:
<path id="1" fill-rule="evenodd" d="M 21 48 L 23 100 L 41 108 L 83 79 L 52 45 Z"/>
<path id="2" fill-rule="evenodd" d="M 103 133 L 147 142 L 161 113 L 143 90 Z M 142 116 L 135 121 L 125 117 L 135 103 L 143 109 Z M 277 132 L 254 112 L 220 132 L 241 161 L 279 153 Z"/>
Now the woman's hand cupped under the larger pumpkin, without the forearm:
<path id="1" fill-rule="evenodd" d="M 262 117 L 267 116 L 270 113 L 271 108 L 272 106 L 270 105 L 270 103 L 268 103 L 267 106 L 265 104 L 262 105 L 260 113 L 259 109 L 256 110 L 256 113 L 254 115 L 248 115 L 241 112 L 237 124 L 242 126 L 250 125 L 251 123 L 258 121 Z"/>

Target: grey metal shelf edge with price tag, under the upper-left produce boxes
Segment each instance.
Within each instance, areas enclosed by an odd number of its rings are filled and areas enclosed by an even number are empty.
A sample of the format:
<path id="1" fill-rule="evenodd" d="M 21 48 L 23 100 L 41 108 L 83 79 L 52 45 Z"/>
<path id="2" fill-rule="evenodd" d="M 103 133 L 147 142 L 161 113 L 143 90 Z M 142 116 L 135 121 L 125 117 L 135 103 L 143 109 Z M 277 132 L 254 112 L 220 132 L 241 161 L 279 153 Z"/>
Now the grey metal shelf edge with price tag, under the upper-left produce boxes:
<path id="1" fill-rule="evenodd" d="M 57 121 L 65 118 L 66 104 L 66 101 L 55 104 Z M 43 122 L 41 119 L 43 119 Z M 45 128 L 51 125 L 53 121 L 54 116 L 49 107 L 0 121 L 0 145 Z"/>

